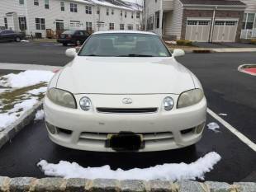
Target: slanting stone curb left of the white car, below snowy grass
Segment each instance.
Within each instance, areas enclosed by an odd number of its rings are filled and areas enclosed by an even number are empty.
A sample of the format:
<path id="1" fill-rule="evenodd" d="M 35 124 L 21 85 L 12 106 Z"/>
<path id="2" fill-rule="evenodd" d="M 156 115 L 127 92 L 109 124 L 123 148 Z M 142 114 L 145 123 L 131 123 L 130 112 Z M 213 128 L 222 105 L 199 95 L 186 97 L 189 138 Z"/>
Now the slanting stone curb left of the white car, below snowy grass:
<path id="1" fill-rule="evenodd" d="M 14 138 L 14 136 L 27 124 L 30 124 L 31 120 L 35 119 L 36 111 L 40 110 L 42 103 L 43 101 L 39 101 L 36 105 L 33 106 L 33 108 L 31 108 L 31 110 L 27 110 L 13 124 L 0 132 L 0 148 L 2 148 L 2 146 L 9 140 Z"/>

